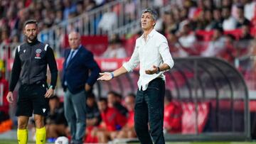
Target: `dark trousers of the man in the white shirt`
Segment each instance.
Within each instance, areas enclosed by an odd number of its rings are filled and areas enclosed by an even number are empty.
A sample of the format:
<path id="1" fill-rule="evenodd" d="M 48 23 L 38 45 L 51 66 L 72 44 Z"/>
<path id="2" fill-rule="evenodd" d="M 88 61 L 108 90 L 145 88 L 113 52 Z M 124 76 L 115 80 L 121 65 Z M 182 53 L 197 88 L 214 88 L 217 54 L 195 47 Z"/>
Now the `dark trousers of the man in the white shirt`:
<path id="1" fill-rule="evenodd" d="M 138 89 L 135 103 L 134 127 L 142 144 L 164 144 L 164 80 L 156 78 L 149 82 L 145 91 Z M 149 127 L 150 126 L 150 134 Z"/>

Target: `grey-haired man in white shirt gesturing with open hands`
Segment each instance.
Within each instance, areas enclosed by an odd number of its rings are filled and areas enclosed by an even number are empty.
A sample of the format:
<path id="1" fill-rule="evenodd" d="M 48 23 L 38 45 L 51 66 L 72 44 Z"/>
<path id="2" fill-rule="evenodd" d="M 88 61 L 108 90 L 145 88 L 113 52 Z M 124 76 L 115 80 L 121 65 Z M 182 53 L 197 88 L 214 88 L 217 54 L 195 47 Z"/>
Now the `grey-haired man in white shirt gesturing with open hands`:
<path id="1" fill-rule="evenodd" d="M 100 73 L 98 80 L 108 81 L 132 71 L 139 65 L 134 127 L 142 144 L 164 144 L 164 71 L 174 66 L 164 35 L 154 30 L 157 13 L 152 9 L 142 11 L 143 35 L 136 40 L 131 59 L 114 72 Z M 148 128 L 150 126 L 150 133 Z"/>

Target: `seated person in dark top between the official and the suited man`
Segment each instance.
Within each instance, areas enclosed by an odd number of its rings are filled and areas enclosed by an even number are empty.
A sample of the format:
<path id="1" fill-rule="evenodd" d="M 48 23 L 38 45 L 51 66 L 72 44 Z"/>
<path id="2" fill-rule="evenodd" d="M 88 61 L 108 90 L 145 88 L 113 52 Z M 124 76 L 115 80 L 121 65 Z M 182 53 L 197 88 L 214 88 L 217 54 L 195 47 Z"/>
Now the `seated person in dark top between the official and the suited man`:
<path id="1" fill-rule="evenodd" d="M 46 117 L 46 138 L 48 142 L 54 142 L 59 136 L 68 135 L 68 123 L 64 116 L 63 103 L 58 96 L 49 98 L 50 111 Z"/>

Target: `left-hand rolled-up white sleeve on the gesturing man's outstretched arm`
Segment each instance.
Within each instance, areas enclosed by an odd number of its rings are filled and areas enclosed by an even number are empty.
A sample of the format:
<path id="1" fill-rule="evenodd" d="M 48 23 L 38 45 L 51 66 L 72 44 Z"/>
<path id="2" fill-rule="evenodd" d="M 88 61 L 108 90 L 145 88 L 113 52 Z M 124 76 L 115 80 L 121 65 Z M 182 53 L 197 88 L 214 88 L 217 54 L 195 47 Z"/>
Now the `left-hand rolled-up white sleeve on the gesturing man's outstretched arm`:
<path id="1" fill-rule="evenodd" d="M 130 60 L 128 62 L 124 62 L 124 64 L 122 65 L 127 72 L 131 72 L 132 70 L 134 70 L 134 68 L 137 67 L 137 65 L 139 65 L 139 48 L 137 48 L 137 45 L 135 45 L 134 48 L 134 52 L 132 53 L 132 57 L 130 58 Z"/>

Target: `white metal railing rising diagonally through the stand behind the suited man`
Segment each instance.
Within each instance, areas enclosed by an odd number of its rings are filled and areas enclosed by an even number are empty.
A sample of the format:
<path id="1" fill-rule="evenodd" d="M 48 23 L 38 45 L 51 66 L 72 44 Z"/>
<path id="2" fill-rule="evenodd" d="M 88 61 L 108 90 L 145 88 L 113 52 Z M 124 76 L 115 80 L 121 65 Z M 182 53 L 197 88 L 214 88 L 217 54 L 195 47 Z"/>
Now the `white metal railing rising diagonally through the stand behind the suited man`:
<path id="1" fill-rule="evenodd" d="M 44 43 L 49 43 L 59 56 L 64 43 L 65 35 L 70 31 L 78 31 L 81 35 L 112 35 L 113 33 L 132 33 L 138 25 L 138 19 L 142 9 L 152 6 L 151 0 L 117 0 L 105 4 L 97 9 L 83 13 L 75 18 L 59 23 L 57 26 L 46 29 L 39 33 L 38 38 Z M 132 8 L 132 11 L 131 11 Z M 107 23 L 101 23 L 104 15 L 109 13 Z M 112 25 L 107 31 L 104 28 Z M 129 31 L 128 31 L 129 30 Z"/>

